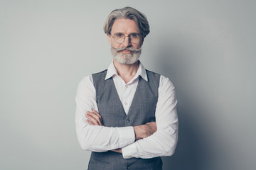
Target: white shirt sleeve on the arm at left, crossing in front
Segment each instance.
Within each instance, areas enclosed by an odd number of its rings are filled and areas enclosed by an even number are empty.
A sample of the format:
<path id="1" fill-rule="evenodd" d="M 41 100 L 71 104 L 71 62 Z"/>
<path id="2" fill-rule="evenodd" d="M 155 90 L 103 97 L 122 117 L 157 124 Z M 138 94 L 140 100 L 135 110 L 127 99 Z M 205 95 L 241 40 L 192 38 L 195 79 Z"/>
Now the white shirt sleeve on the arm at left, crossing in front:
<path id="1" fill-rule="evenodd" d="M 92 76 L 84 77 L 79 85 L 76 101 L 75 128 L 80 147 L 94 152 L 105 152 L 125 147 L 134 142 L 134 129 L 131 127 L 110 128 L 87 123 L 86 111 L 98 111 L 96 91 Z"/>

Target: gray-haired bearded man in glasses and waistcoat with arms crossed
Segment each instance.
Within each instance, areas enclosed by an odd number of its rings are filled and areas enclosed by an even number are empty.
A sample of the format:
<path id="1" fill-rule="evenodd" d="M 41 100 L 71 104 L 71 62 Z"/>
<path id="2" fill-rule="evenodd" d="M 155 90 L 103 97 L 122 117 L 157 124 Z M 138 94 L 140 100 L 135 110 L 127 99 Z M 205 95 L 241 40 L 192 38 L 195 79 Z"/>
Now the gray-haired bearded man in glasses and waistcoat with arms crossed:
<path id="1" fill-rule="evenodd" d="M 92 151 L 88 169 L 162 169 L 174 154 L 178 117 L 174 86 L 144 69 L 139 56 L 149 23 L 131 7 L 116 9 L 105 26 L 113 62 L 84 77 L 76 96 L 76 130 Z"/>

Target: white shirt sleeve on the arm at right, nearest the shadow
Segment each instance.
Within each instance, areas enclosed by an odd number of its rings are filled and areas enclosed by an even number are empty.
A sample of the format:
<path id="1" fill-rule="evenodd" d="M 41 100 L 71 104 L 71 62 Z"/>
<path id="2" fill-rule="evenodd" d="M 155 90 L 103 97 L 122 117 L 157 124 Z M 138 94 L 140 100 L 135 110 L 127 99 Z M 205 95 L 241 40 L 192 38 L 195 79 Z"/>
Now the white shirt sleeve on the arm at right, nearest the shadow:
<path id="1" fill-rule="evenodd" d="M 176 94 L 171 81 L 161 76 L 159 99 L 156 103 L 156 126 L 153 135 L 122 148 L 125 159 L 171 156 L 178 142 L 178 115 Z"/>

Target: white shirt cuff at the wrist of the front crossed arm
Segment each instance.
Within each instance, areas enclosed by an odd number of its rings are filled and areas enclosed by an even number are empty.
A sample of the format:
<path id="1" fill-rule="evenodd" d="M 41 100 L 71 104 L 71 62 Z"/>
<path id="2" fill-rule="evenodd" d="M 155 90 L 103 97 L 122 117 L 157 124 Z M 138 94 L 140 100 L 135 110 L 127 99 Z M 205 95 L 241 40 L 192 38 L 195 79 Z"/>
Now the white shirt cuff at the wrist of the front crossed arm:
<path id="1" fill-rule="evenodd" d="M 135 141 L 134 128 L 132 126 L 118 128 L 119 148 L 126 147 Z"/>

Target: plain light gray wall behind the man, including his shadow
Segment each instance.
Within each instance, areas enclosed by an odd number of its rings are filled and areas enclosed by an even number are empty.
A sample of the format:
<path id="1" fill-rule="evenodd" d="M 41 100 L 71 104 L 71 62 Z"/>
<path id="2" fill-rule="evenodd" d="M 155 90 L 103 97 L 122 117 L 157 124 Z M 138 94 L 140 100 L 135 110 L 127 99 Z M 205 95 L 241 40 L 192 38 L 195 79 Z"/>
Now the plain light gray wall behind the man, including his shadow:
<path id="1" fill-rule="evenodd" d="M 176 86 L 179 141 L 164 169 L 255 169 L 255 5 L 0 0 L 0 169 L 86 169 L 76 88 L 110 64 L 102 25 L 124 6 L 149 19 L 142 63 Z"/>

